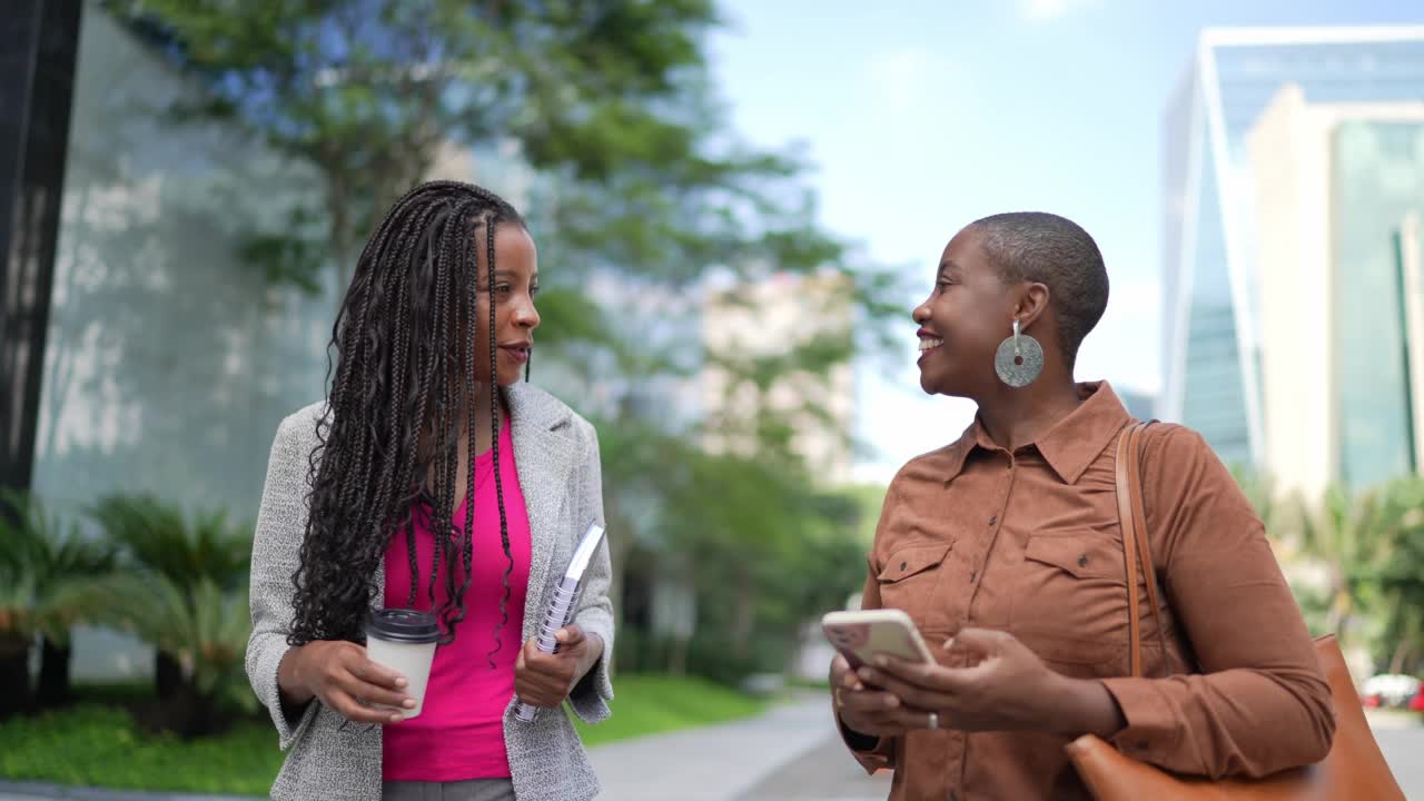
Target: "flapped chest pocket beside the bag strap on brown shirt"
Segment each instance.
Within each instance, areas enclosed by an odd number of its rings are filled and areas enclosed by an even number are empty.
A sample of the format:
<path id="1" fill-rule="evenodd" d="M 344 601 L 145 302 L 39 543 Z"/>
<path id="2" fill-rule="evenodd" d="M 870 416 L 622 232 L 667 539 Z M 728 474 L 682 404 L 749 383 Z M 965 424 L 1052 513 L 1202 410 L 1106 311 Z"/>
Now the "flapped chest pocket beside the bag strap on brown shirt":
<path id="1" fill-rule="evenodd" d="M 1124 564 L 1118 540 L 1096 532 L 1030 537 L 1014 583 L 1014 636 L 1045 661 L 1109 668 L 1126 648 Z"/>

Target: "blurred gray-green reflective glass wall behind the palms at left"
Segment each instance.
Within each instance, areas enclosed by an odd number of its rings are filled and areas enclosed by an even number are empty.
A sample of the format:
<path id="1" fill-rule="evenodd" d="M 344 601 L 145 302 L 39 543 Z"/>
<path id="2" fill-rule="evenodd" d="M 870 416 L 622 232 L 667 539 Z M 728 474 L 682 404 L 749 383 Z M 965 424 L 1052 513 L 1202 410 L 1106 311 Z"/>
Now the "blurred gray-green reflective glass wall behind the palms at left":
<path id="1" fill-rule="evenodd" d="M 155 495 L 251 522 L 278 423 L 323 395 L 333 286 L 273 289 L 239 255 L 320 182 L 235 127 L 158 113 L 194 97 L 85 4 L 31 483 L 64 519 L 87 522 L 107 495 Z M 128 637 L 74 637 L 78 680 L 150 666 Z"/>

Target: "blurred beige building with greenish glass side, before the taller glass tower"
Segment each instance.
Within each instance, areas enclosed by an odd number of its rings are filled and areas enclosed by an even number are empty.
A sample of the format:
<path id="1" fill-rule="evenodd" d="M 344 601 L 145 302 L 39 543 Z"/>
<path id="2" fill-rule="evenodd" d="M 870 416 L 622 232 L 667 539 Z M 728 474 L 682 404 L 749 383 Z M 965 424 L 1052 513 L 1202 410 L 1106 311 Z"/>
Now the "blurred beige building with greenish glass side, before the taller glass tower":
<path id="1" fill-rule="evenodd" d="M 1424 101 L 1313 104 L 1290 84 L 1247 150 L 1265 465 L 1307 496 L 1417 472 L 1424 339 L 1403 257 L 1424 214 Z"/>

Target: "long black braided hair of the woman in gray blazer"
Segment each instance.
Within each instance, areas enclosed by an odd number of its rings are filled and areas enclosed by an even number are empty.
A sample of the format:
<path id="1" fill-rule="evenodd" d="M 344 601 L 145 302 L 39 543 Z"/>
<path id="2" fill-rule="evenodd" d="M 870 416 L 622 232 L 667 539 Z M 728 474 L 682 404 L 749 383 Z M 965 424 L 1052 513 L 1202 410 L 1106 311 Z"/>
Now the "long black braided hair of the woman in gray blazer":
<path id="1" fill-rule="evenodd" d="M 433 181 L 396 201 L 362 251 L 328 346 L 328 403 L 318 422 L 318 446 L 308 460 L 310 513 L 302 542 L 295 617 L 288 643 L 365 639 L 376 566 L 390 537 L 406 534 L 410 557 L 409 606 L 416 607 L 416 515 L 434 534 L 426 596 L 434 606 L 444 564 L 446 601 L 434 610 L 441 641 L 454 639 L 470 587 L 474 469 L 466 480 L 466 515 L 454 516 L 460 415 L 468 453 L 476 452 L 476 314 L 478 261 L 484 245 L 490 314 L 490 429 L 504 596 L 500 631 L 508 621 L 508 522 L 500 486 L 500 398 L 494 292 L 494 234 L 523 218 L 494 192 L 470 184 Z M 335 369 L 332 353 L 336 353 Z M 333 375 L 335 372 L 335 375 Z M 454 547 L 446 547 L 456 534 Z M 459 550 L 459 554 L 456 553 Z M 464 566 L 454 586 L 456 559 Z M 493 661 L 491 661 L 493 666 Z"/>

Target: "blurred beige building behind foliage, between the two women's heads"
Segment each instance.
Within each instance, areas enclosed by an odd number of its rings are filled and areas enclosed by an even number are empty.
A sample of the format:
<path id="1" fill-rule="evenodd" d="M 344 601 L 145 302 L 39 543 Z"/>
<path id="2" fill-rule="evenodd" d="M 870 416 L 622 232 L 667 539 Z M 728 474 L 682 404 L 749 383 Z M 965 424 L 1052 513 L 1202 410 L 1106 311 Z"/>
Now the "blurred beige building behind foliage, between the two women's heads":
<path id="1" fill-rule="evenodd" d="M 815 369 L 850 348 L 847 282 L 778 272 L 708 292 L 699 383 L 711 449 L 750 452 L 758 426 L 779 420 L 820 483 L 852 480 L 854 371 L 849 359 Z"/>

